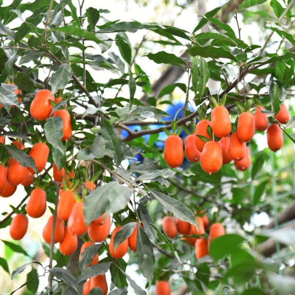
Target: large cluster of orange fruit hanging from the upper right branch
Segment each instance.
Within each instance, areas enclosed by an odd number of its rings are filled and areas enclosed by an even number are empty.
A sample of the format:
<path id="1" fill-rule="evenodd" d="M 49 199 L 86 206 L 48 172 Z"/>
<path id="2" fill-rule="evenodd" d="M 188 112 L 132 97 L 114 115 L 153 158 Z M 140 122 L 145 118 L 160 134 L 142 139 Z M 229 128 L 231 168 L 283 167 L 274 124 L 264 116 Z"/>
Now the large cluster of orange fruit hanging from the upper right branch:
<path id="1" fill-rule="evenodd" d="M 268 147 L 273 151 L 279 150 L 283 146 L 283 131 L 277 123 L 268 127 L 267 115 L 261 110 L 264 108 L 259 106 L 254 115 L 250 112 L 242 113 L 238 118 L 237 131 L 231 133 L 229 111 L 224 106 L 216 106 L 212 110 L 211 121 L 200 120 L 195 134 L 185 138 L 186 158 L 191 162 L 200 161 L 202 169 L 209 174 L 216 173 L 223 164 L 229 164 L 232 160 L 238 170 L 245 171 L 251 165 L 250 150 L 246 143 L 252 139 L 255 129 L 267 129 Z M 284 104 L 275 118 L 281 124 L 289 122 L 290 114 Z M 208 128 L 212 128 L 212 135 L 209 135 Z M 213 141 L 213 135 L 220 140 Z M 184 151 L 179 136 L 173 134 L 165 140 L 164 159 L 173 168 L 182 164 Z"/>

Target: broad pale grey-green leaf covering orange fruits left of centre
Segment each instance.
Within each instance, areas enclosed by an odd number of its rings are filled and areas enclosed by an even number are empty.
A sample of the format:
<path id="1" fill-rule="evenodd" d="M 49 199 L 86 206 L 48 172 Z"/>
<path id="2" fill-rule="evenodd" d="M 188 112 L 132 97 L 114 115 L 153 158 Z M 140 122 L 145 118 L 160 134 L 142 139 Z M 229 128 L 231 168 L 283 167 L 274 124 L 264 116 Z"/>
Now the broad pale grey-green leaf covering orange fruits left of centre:
<path id="1" fill-rule="evenodd" d="M 85 223 L 97 219 L 103 213 L 109 215 L 124 209 L 132 196 L 133 190 L 119 185 L 116 181 L 97 187 L 84 200 Z"/>

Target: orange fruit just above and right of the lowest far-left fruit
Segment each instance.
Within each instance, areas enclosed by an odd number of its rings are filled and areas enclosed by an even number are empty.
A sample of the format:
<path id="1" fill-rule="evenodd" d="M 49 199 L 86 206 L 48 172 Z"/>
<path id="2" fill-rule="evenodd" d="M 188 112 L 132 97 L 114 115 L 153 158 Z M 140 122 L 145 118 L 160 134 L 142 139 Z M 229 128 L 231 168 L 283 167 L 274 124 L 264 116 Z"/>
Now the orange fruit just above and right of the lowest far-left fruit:
<path id="1" fill-rule="evenodd" d="M 29 216 L 33 218 L 41 217 L 46 211 L 46 192 L 41 188 L 35 188 L 26 206 Z"/>

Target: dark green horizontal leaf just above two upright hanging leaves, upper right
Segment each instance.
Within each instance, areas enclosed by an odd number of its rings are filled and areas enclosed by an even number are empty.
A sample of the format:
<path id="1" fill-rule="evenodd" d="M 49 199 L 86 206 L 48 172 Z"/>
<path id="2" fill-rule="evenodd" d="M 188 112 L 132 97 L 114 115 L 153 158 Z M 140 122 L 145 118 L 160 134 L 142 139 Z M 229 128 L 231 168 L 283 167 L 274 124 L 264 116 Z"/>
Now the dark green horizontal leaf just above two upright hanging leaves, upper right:
<path id="1" fill-rule="evenodd" d="M 192 56 L 202 56 L 202 57 L 211 57 L 211 58 L 228 58 L 233 61 L 237 61 L 235 56 L 228 50 L 225 50 L 221 47 L 215 46 L 198 46 L 195 45 L 191 49 L 189 49 L 189 53 Z"/>

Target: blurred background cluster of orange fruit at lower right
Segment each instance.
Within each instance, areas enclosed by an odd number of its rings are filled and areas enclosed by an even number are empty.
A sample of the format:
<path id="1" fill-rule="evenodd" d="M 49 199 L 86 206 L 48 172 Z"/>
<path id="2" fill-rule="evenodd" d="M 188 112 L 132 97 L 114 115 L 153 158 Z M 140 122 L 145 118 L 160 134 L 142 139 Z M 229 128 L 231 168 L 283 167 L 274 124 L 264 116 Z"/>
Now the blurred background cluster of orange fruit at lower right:
<path id="1" fill-rule="evenodd" d="M 163 218 L 163 231 L 170 239 L 177 237 L 179 233 L 182 235 L 181 240 L 187 241 L 191 246 L 195 247 L 196 258 L 200 259 L 209 253 L 210 242 L 225 234 L 225 228 L 221 223 L 213 223 L 210 226 L 208 216 L 201 211 L 201 216 L 196 216 L 197 226 L 192 225 L 186 221 L 182 221 L 179 218 L 174 220 L 172 216 L 165 216 Z M 208 239 L 204 237 L 194 237 L 193 235 L 204 235 L 206 229 L 209 229 Z"/>

